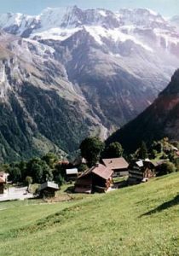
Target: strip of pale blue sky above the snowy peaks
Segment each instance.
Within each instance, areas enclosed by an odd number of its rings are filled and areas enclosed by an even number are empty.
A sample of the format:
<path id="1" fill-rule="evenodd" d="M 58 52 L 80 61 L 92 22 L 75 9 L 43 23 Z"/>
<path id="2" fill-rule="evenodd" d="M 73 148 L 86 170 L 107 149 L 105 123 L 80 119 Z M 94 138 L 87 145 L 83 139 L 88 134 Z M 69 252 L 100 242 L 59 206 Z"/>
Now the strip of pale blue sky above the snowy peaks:
<path id="1" fill-rule="evenodd" d="M 179 0 L 0 0 L 0 13 L 20 12 L 38 15 L 47 7 L 66 7 L 77 5 L 80 8 L 149 8 L 165 17 L 179 15 Z"/>

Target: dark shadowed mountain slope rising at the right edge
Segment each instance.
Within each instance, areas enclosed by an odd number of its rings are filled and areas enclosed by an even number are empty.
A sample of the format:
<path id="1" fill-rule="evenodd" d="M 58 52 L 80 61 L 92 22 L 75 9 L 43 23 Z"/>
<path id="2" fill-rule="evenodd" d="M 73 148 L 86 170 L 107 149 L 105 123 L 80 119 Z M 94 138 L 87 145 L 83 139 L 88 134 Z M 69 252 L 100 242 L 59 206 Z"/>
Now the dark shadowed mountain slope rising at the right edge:
<path id="1" fill-rule="evenodd" d="M 113 133 L 107 143 L 118 141 L 130 152 L 141 144 L 163 137 L 179 140 L 179 69 L 159 97 L 129 124 Z"/>

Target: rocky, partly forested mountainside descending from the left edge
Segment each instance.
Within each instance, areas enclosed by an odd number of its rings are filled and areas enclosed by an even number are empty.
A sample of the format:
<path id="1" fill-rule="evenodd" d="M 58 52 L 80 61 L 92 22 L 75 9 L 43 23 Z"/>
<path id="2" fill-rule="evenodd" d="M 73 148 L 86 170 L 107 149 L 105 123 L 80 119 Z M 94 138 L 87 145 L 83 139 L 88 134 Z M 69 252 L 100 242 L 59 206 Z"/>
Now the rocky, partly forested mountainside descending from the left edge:
<path id="1" fill-rule="evenodd" d="M 90 132 L 103 137 L 106 129 L 73 89 L 53 49 L 5 33 L 0 44 L 1 160 L 73 151 Z"/>

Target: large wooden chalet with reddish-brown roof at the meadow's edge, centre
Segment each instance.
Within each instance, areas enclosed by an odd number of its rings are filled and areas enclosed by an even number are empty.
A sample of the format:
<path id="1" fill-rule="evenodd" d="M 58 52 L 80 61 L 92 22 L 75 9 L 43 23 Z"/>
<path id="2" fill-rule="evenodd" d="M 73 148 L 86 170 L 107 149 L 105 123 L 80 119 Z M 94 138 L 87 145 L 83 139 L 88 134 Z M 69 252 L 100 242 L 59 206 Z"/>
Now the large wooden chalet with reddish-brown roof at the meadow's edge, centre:
<path id="1" fill-rule="evenodd" d="M 78 193 L 93 193 L 106 192 L 111 187 L 113 182 L 113 170 L 97 164 L 83 172 L 75 183 L 75 192 Z"/>

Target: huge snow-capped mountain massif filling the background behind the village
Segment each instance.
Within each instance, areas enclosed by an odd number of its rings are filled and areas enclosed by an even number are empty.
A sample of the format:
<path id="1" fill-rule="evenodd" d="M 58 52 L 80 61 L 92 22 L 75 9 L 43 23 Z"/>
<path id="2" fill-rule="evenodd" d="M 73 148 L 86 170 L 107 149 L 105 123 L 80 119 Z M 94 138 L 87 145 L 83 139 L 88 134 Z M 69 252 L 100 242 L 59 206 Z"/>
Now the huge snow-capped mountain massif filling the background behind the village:
<path id="1" fill-rule="evenodd" d="M 45 9 L 0 27 L 1 160 L 106 139 L 179 66 L 176 27 L 149 9 Z"/>

